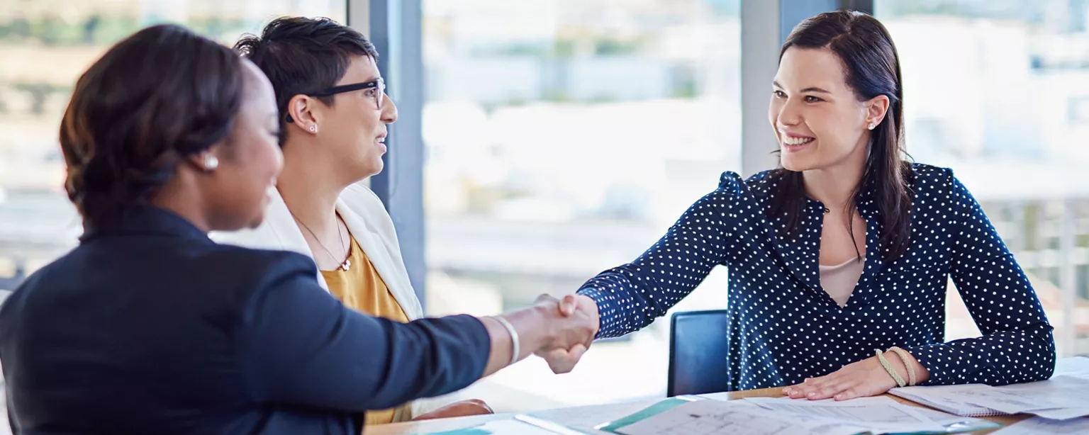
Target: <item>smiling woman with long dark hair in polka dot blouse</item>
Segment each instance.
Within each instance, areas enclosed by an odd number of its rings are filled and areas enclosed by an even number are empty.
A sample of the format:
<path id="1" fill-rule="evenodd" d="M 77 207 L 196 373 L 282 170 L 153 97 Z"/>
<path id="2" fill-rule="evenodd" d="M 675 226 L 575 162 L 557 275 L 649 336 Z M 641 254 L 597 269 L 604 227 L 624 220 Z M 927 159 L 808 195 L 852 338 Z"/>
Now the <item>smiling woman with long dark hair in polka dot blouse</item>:
<path id="1" fill-rule="evenodd" d="M 725 265 L 732 389 L 879 395 L 897 386 L 876 356 L 891 347 L 906 350 L 883 353 L 905 382 L 908 369 L 925 385 L 1050 377 L 1032 286 L 950 170 L 903 160 L 903 120 L 885 28 L 857 12 L 805 21 L 772 86 L 782 167 L 723 174 L 639 258 L 589 279 L 579 309 L 599 313 L 599 337 L 621 336 Z M 950 276 L 981 337 L 943 343 Z M 571 355 L 543 357 L 570 370 Z"/>

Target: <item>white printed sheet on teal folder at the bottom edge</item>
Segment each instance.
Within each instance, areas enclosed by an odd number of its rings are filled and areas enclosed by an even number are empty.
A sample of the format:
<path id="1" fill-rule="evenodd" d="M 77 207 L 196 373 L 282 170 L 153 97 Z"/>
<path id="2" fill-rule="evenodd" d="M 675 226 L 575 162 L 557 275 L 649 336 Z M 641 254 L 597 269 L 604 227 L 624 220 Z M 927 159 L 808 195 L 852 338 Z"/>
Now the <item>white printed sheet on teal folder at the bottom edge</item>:
<path id="1" fill-rule="evenodd" d="M 612 428 L 624 435 L 853 435 L 858 427 L 822 419 L 785 418 L 746 406 L 720 400 L 697 400 L 675 406 L 652 417 Z"/>

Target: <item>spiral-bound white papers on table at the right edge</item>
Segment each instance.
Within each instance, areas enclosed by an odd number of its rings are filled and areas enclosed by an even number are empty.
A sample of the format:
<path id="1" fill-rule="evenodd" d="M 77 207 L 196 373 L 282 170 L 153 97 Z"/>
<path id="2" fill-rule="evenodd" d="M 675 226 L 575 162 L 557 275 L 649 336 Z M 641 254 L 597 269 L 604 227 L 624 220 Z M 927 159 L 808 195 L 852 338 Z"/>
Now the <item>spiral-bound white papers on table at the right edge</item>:
<path id="1" fill-rule="evenodd" d="M 1089 415 L 1089 375 L 992 387 L 982 384 L 893 388 L 889 393 L 957 415 L 1031 413 L 1053 420 Z"/>

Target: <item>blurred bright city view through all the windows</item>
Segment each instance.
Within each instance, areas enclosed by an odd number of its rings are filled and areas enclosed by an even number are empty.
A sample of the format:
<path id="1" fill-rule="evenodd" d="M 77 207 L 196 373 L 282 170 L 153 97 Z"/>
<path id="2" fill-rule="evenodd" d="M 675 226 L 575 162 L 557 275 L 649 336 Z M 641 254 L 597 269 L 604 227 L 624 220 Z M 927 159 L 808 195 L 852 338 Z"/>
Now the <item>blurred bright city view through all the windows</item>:
<path id="1" fill-rule="evenodd" d="M 723 171 L 741 172 L 739 0 L 423 5 L 429 314 L 574 291 L 649 247 Z M 907 150 L 953 167 L 983 203 L 1060 353 L 1089 352 L 1089 4 L 874 9 L 901 53 Z M 0 0 L 0 289 L 81 233 L 57 132 L 75 79 L 110 44 L 176 22 L 230 45 L 278 15 L 343 22 L 345 2 Z M 674 311 L 724 308 L 725 275 Z M 978 335 L 952 286 L 947 310 L 947 338 Z M 571 374 L 529 359 L 458 396 L 497 411 L 661 396 L 668 326 L 596 344 Z"/>

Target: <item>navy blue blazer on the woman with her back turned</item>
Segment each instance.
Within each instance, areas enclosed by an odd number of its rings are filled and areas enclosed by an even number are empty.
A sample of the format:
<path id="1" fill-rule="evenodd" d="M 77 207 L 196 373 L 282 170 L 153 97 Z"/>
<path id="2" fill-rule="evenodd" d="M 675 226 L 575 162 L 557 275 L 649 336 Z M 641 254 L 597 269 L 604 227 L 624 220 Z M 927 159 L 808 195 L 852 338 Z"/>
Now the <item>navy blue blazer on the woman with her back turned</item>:
<path id="1" fill-rule="evenodd" d="M 88 229 L 0 308 L 16 433 L 355 435 L 365 410 L 482 374 L 479 320 L 363 315 L 316 274 L 156 208 Z"/>

